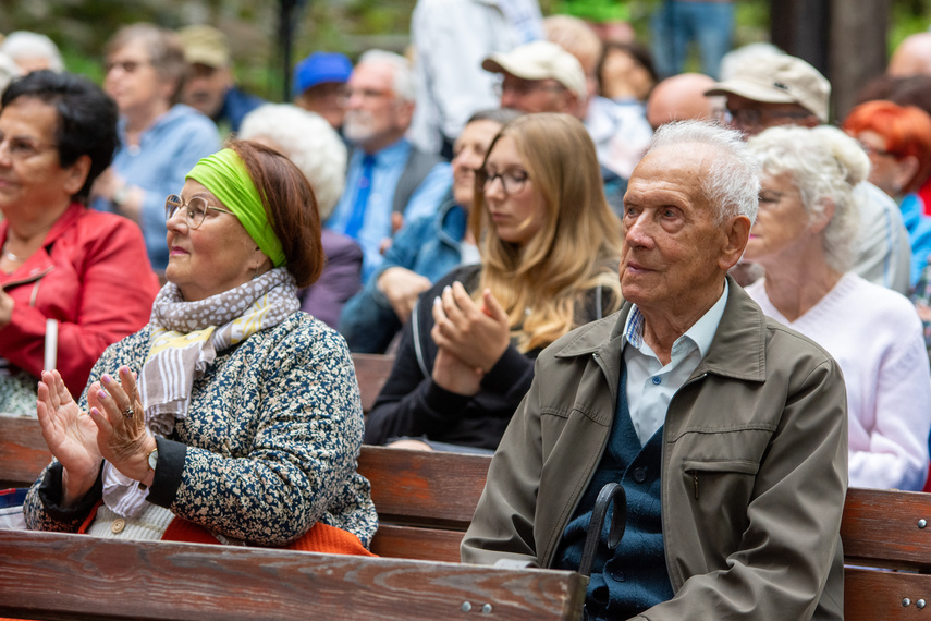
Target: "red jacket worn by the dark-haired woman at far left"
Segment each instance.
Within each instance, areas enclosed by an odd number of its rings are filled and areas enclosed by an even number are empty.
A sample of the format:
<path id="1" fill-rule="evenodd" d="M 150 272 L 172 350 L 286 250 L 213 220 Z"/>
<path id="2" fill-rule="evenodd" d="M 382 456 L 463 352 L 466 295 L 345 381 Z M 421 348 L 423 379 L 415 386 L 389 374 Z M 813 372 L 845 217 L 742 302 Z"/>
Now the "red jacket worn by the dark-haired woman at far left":
<path id="1" fill-rule="evenodd" d="M 159 285 L 134 222 L 73 203 L 28 260 L 0 271 L 0 288 L 15 301 L 0 356 L 39 377 L 46 319 L 58 319 L 57 368 L 77 399 L 103 350 L 148 322 Z"/>

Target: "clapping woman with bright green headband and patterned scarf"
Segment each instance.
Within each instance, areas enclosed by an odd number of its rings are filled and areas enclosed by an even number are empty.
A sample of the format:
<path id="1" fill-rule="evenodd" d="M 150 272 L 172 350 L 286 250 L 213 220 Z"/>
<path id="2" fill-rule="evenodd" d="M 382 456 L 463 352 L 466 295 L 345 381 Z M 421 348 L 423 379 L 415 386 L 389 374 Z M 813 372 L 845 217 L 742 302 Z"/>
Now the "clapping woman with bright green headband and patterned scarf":
<path id="1" fill-rule="evenodd" d="M 28 527 L 368 553 L 352 360 L 295 294 L 323 263 L 306 178 L 232 142 L 166 216 L 169 282 L 148 326 L 103 353 L 79 402 L 42 374 L 56 461 L 26 498 Z"/>

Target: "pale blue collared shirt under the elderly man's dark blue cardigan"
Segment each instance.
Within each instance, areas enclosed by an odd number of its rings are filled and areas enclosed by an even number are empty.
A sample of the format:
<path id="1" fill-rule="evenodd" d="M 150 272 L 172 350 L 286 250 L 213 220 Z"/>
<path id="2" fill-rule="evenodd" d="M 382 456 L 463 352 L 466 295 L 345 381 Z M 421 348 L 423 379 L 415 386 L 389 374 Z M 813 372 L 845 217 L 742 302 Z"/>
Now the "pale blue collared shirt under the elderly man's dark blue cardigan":
<path id="1" fill-rule="evenodd" d="M 724 307 L 727 305 L 727 281 L 718 302 L 696 321 L 685 334 L 675 340 L 670 363 L 665 366 L 644 341 L 644 315 L 635 304 L 624 325 L 624 362 L 627 366 L 627 409 L 634 429 L 646 446 L 666 418 L 673 394 L 688 380 L 691 372 L 708 353 Z M 629 348 L 625 346 L 630 344 Z"/>

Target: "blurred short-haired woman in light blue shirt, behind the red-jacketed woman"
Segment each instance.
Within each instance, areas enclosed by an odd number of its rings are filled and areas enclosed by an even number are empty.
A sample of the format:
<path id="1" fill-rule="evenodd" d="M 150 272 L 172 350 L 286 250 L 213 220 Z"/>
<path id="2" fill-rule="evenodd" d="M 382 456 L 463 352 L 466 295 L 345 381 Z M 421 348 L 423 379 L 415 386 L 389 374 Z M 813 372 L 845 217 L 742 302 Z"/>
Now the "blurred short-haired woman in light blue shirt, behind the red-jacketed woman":
<path id="1" fill-rule="evenodd" d="M 94 185 L 93 207 L 137 222 L 156 271 L 168 265 L 164 197 L 216 151 L 217 126 L 177 102 L 187 64 L 177 34 L 152 24 L 120 28 L 107 45 L 103 88 L 120 109 L 120 148 Z"/>

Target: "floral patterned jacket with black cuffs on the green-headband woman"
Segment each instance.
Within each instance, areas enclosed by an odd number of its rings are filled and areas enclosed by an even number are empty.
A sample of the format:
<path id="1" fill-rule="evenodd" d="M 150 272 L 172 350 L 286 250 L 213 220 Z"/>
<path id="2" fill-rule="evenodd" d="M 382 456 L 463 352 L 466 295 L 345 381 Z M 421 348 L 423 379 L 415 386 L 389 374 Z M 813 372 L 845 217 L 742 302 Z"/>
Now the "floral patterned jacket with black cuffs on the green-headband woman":
<path id="1" fill-rule="evenodd" d="M 108 348 L 90 382 L 115 375 L 122 364 L 138 370 L 148 349 L 146 327 Z M 170 438 L 158 439 L 148 500 L 249 544 L 285 545 L 319 521 L 368 547 L 378 516 L 370 484 L 356 472 L 362 439 L 345 341 L 294 313 L 218 354 L 194 382 L 188 416 Z M 82 502 L 62 509 L 60 482 L 61 465 L 52 462 L 30 488 L 24 509 L 29 528 L 76 531 L 101 497 L 98 477 Z"/>

